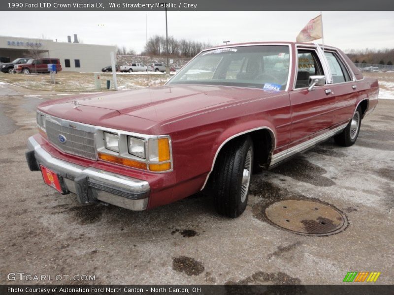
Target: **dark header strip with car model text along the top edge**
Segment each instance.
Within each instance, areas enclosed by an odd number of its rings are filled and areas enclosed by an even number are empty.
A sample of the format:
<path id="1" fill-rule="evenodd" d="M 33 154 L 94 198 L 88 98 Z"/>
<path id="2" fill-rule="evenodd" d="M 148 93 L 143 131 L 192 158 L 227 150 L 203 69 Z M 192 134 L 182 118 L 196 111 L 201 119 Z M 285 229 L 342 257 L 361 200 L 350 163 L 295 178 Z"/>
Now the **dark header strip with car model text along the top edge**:
<path id="1" fill-rule="evenodd" d="M 165 4 L 164 4 L 165 3 Z M 8 11 L 270 11 L 270 10 L 394 10 L 393 0 L 1 0 L 0 10 Z"/>

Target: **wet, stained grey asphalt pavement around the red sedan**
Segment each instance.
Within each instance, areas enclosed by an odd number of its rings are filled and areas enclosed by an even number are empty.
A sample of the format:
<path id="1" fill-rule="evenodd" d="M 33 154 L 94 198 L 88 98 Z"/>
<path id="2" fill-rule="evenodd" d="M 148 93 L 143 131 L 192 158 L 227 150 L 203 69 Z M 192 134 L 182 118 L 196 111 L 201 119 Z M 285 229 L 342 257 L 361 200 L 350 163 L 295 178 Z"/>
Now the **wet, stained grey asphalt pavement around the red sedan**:
<path id="1" fill-rule="evenodd" d="M 329 140 L 254 176 L 246 211 L 228 219 L 199 195 L 143 212 L 60 195 L 25 160 L 35 106 L 57 95 L 0 87 L 0 284 L 80 283 L 8 281 L 9 272 L 95 284 L 341 284 L 348 271 L 393 283 L 394 100 L 380 100 L 353 147 Z M 280 229 L 262 212 L 286 199 L 328 203 L 348 225 L 331 236 Z"/>

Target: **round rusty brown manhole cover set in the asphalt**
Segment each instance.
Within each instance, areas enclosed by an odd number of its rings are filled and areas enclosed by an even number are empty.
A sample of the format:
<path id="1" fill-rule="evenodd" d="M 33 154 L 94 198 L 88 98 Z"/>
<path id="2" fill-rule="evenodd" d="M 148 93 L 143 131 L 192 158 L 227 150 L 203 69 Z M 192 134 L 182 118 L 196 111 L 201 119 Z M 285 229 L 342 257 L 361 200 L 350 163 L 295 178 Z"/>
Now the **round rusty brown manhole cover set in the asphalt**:
<path id="1" fill-rule="evenodd" d="M 318 202 L 285 200 L 265 209 L 275 225 L 308 236 L 328 236 L 343 231 L 348 221 L 339 210 Z"/>

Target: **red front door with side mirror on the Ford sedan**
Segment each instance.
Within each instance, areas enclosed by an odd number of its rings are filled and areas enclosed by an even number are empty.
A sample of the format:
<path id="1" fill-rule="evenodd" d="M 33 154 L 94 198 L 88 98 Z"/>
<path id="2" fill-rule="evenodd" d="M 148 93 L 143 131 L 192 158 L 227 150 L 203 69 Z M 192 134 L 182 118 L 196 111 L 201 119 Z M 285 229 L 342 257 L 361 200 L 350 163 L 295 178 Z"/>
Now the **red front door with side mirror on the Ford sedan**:
<path id="1" fill-rule="evenodd" d="M 335 122 L 335 96 L 330 86 L 308 90 L 310 76 L 325 75 L 316 48 L 297 48 L 296 59 L 296 80 L 290 91 L 292 135 L 289 148 L 325 132 Z"/>

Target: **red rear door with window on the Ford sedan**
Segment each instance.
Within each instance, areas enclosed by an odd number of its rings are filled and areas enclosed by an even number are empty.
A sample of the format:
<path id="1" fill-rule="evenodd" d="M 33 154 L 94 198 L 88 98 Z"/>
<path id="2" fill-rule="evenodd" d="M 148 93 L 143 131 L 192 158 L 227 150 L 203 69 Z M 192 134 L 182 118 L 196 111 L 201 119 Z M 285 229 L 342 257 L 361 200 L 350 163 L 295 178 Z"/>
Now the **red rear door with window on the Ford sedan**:
<path id="1" fill-rule="evenodd" d="M 345 124 L 353 116 L 361 89 L 357 89 L 352 72 L 335 50 L 325 50 L 324 54 L 332 75 L 330 89 L 336 101 L 335 124 Z"/>

